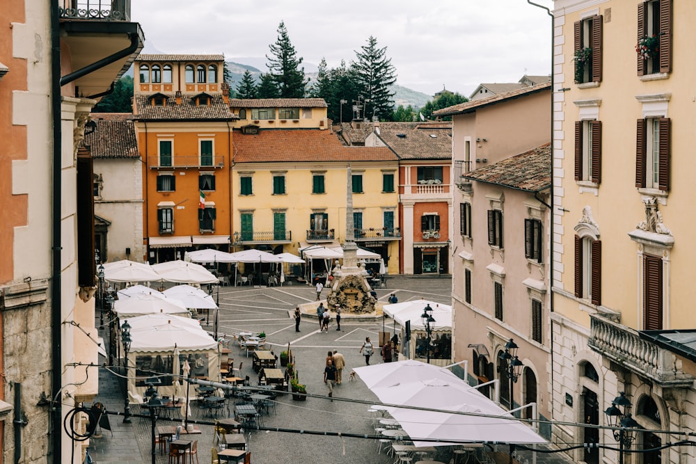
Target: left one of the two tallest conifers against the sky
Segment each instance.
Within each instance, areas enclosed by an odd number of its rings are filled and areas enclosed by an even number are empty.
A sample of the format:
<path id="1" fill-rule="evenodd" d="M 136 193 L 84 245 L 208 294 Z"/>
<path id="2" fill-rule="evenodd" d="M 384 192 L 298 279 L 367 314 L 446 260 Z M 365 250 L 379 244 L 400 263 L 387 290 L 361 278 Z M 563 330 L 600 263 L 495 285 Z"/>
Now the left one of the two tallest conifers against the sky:
<path id="1" fill-rule="evenodd" d="M 285 23 L 278 26 L 278 39 L 276 43 L 269 45 L 271 56 L 266 55 L 269 61 L 267 66 L 269 74 L 276 82 L 278 96 L 280 98 L 304 98 L 305 80 L 304 67 L 300 67 L 302 58 L 298 58 L 295 47 L 287 35 Z"/>

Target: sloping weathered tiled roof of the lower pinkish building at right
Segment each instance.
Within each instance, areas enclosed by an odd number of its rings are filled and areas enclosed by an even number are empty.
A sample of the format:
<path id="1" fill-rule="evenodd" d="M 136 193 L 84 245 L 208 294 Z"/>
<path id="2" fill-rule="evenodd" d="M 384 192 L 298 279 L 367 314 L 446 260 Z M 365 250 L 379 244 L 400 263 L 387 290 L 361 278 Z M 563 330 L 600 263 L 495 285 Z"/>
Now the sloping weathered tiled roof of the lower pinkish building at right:
<path id="1" fill-rule="evenodd" d="M 551 143 L 462 175 L 466 179 L 538 192 L 551 186 Z"/>

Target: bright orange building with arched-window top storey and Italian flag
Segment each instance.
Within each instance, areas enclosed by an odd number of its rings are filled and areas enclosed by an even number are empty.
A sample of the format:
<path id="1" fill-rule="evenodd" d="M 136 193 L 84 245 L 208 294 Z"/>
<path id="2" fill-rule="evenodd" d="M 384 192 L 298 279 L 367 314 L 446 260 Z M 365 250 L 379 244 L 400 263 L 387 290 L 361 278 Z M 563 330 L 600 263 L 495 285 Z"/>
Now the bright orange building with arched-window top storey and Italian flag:
<path id="1" fill-rule="evenodd" d="M 141 55 L 134 120 L 144 161 L 146 260 L 183 259 L 232 233 L 232 126 L 222 55 Z"/>

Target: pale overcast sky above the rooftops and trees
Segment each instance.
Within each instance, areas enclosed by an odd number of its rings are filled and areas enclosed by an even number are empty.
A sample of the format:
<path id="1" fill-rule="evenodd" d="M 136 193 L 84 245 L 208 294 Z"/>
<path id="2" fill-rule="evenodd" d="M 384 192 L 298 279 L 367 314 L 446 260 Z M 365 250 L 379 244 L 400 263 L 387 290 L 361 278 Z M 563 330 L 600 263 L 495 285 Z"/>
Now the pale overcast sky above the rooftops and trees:
<path id="1" fill-rule="evenodd" d="M 270 53 L 283 21 L 308 71 L 322 58 L 349 63 L 373 35 L 397 83 L 429 95 L 444 86 L 468 96 L 479 83 L 551 72 L 551 17 L 526 0 L 137 0 L 132 17 L 146 52 L 222 53 L 245 64 Z"/>

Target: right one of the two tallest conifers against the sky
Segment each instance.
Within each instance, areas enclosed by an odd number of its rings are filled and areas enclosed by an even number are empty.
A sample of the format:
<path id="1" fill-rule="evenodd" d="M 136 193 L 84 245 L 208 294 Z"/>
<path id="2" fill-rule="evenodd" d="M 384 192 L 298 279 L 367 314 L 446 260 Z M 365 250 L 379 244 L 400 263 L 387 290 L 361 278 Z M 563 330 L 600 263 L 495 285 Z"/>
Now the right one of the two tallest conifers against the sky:
<path id="1" fill-rule="evenodd" d="M 386 47 L 378 48 L 377 39 L 372 35 L 361 50 L 356 51 L 357 61 L 351 63 L 351 70 L 358 79 L 363 97 L 370 100 L 365 106 L 365 117 L 390 119 L 394 111 L 394 93 L 389 88 L 396 82 L 396 68 L 391 58 L 386 57 Z"/>

